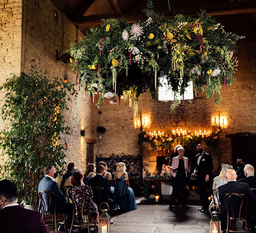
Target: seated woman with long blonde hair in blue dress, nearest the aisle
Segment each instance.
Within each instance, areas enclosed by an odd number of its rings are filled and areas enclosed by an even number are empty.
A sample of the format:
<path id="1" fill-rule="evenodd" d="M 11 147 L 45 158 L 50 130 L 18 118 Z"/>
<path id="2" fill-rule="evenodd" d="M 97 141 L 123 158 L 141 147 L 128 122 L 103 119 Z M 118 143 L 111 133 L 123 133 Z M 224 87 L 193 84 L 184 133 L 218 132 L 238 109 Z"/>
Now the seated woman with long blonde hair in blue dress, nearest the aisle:
<path id="1" fill-rule="evenodd" d="M 123 162 L 117 163 L 114 179 L 115 180 L 116 179 L 126 179 L 128 181 L 128 186 L 130 186 L 128 174 L 127 174 L 127 172 L 125 172 L 125 170 L 126 170 L 125 163 L 123 163 Z M 122 191 L 124 190 L 122 185 L 118 185 L 118 187 L 116 187 L 116 188 L 118 188 L 119 193 L 122 193 Z M 128 193 L 129 209 L 136 210 L 137 206 L 136 206 L 134 192 L 133 192 L 132 188 L 128 187 L 127 193 Z"/>

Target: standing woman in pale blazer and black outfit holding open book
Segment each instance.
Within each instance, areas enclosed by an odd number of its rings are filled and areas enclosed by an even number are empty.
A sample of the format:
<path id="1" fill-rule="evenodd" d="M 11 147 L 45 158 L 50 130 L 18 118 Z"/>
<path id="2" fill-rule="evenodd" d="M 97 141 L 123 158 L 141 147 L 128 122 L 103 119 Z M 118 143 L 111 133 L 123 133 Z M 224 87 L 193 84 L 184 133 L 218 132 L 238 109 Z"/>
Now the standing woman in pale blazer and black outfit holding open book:
<path id="1" fill-rule="evenodd" d="M 179 147 L 177 149 L 179 156 L 172 159 L 172 194 L 170 199 L 169 210 L 172 211 L 172 205 L 177 192 L 181 192 L 181 204 L 185 208 L 185 192 L 186 192 L 186 177 L 190 170 L 188 166 L 188 158 L 184 157 L 184 148 Z"/>

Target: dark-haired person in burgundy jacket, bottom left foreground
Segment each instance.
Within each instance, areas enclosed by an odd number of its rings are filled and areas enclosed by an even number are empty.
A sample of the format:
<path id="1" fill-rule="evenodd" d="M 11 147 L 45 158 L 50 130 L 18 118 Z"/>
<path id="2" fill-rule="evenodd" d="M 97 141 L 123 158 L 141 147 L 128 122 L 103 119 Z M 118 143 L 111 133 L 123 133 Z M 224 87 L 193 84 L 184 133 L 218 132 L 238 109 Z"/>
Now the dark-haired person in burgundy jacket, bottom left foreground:
<path id="1" fill-rule="evenodd" d="M 16 199 L 16 184 L 0 180 L 0 232 L 50 233 L 40 212 L 24 209 Z"/>

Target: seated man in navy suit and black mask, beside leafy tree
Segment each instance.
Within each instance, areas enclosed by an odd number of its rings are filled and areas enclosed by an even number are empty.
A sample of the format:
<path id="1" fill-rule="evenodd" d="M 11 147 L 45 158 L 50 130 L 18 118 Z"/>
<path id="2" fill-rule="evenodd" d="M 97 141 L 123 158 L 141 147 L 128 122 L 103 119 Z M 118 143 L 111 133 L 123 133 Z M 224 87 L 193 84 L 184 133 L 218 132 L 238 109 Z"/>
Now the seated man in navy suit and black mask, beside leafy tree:
<path id="1" fill-rule="evenodd" d="M 57 203 L 56 203 L 56 211 L 58 213 L 65 213 L 65 219 L 66 219 L 66 227 L 70 228 L 71 221 L 72 221 L 72 215 L 73 215 L 73 206 L 71 203 L 67 202 L 66 197 L 61 192 L 59 185 L 57 182 L 54 181 L 54 179 L 57 177 L 57 172 L 55 167 L 48 166 L 45 168 L 44 171 L 44 178 L 41 179 L 38 185 L 38 192 L 40 191 L 49 191 L 53 192 L 56 195 Z M 44 202 L 46 204 L 46 210 L 48 210 L 48 199 L 44 199 Z M 51 210 L 54 210 L 54 199 L 51 199 Z M 42 213 L 42 204 L 39 200 L 39 207 L 38 210 Z M 59 231 L 64 231 L 64 224 L 61 224 L 59 226 Z"/>

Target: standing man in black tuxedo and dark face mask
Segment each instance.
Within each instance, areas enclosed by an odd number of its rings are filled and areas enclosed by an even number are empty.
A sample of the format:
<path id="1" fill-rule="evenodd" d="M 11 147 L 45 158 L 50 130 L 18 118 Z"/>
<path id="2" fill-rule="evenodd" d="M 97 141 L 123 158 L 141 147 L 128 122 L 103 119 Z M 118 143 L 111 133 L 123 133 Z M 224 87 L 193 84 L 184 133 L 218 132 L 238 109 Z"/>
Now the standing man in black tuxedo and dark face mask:
<path id="1" fill-rule="evenodd" d="M 209 180 L 213 177 L 213 163 L 211 155 L 204 151 L 204 146 L 202 144 L 197 145 L 197 152 L 194 174 L 197 175 L 198 191 L 202 203 L 202 208 L 199 208 L 198 211 L 206 213 L 209 212 L 210 202 L 208 199 L 207 187 L 209 186 Z"/>

